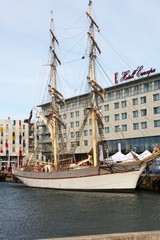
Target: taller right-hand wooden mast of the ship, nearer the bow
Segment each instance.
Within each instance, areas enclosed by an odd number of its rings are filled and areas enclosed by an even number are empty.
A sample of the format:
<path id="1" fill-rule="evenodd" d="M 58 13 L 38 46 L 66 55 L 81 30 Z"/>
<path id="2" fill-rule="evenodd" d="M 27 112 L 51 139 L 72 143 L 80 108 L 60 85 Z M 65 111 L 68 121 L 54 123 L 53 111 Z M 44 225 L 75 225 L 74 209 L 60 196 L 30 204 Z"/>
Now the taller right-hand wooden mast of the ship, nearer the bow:
<path id="1" fill-rule="evenodd" d="M 98 126 L 97 120 L 99 118 L 99 110 L 98 110 L 98 96 L 102 97 L 103 90 L 102 88 L 96 83 L 96 76 L 95 76 L 95 59 L 97 51 L 99 54 L 101 53 L 95 39 L 94 39 L 94 28 L 96 27 L 99 31 L 99 27 L 97 26 L 96 22 L 92 17 L 92 0 L 89 0 L 89 14 L 87 14 L 90 20 L 90 27 L 89 27 L 89 38 L 90 38 L 90 53 L 89 53 L 89 76 L 87 77 L 88 83 L 91 86 L 91 119 L 92 119 L 92 148 L 93 148 L 93 162 L 94 166 L 99 165 L 98 154 L 97 154 L 97 135 L 98 135 Z"/>

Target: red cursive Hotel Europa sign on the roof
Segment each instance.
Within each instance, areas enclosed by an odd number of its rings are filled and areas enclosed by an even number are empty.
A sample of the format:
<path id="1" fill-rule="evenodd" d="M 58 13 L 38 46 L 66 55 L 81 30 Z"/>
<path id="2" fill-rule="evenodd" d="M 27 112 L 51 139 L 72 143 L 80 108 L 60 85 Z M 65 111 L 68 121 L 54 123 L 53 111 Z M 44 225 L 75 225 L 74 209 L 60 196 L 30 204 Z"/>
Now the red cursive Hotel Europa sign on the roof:
<path id="1" fill-rule="evenodd" d="M 127 70 L 127 71 L 122 72 L 120 78 L 119 78 L 118 72 L 115 73 L 114 74 L 114 81 L 115 81 L 115 84 L 117 84 L 119 82 L 128 81 L 128 80 L 133 79 L 135 77 L 137 77 L 137 78 L 144 77 L 144 76 L 145 77 L 149 77 L 150 74 L 154 73 L 155 71 L 156 71 L 155 68 L 150 68 L 149 70 L 144 71 L 144 67 L 143 66 L 139 66 L 139 67 L 137 67 L 133 71 Z"/>

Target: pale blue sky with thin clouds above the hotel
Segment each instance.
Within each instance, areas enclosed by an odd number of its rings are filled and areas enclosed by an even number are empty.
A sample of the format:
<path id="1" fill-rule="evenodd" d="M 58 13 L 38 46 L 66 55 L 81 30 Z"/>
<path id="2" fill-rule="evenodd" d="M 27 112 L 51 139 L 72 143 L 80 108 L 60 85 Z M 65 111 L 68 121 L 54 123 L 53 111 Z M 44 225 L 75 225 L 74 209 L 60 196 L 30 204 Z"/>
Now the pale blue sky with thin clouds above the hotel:
<path id="1" fill-rule="evenodd" d="M 0 119 L 26 119 L 47 101 L 51 10 L 61 60 L 57 87 L 65 98 L 87 91 L 88 2 L 0 0 Z M 159 0 L 93 0 L 103 87 L 114 84 L 115 72 L 141 65 L 160 72 L 159 9 Z"/>

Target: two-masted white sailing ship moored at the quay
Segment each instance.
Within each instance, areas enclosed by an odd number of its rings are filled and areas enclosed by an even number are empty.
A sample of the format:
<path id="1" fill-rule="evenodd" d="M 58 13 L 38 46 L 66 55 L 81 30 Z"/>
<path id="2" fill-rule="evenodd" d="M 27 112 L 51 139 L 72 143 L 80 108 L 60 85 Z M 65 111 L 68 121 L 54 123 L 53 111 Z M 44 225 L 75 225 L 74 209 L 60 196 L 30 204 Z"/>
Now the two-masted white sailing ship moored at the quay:
<path id="1" fill-rule="evenodd" d="M 62 94 L 57 90 L 56 86 L 56 66 L 61 64 L 56 52 L 55 44 L 58 43 L 54 35 L 53 18 L 51 19 L 51 84 L 49 85 L 49 93 L 51 94 L 51 109 L 49 117 L 45 117 L 41 112 L 36 110 L 40 118 L 50 131 L 53 164 L 49 172 L 38 172 L 31 170 L 29 167 L 15 168 L 13 174 L 26 186 L 36 188 L 51 188 L 61 190 L 78 190 L 78 191 L 116 191 L 116 192 L 133 192 L 136 188 L 138 179 L 145 170 L 148 162 L 153 161 L 160 155 L 160 148 L 155 145 L 153 153 L 139 160 L 134 158 L 129 162 L 103 163 L 101 164 L 98 147 L 97 134 L 98 126 L 103 128 L 103 121 L 98 107 L 98 98 L 103 99 L 103 89 L 96 82 L 95 78 L 95 58 L 97 52 L 101 52 L 95 38 L 94 29 L 98 28 L 92 16 L 92 0 L 89 1 L 89 13 L 86 13 L 90 21 L 88 36 L 90 39 L 89 53 L 89 76 L 88 84 L 91 89 L 91 104 L 86 111 L 91 116 L 92 122 L 92 154 L 88 159 L 80 162 L 66 162 L 66 159 L 58 157 L 58 134 L 59 125 L 65 127 L 65 124 L 59 116 L 58 103 L 64 103 Z"/>

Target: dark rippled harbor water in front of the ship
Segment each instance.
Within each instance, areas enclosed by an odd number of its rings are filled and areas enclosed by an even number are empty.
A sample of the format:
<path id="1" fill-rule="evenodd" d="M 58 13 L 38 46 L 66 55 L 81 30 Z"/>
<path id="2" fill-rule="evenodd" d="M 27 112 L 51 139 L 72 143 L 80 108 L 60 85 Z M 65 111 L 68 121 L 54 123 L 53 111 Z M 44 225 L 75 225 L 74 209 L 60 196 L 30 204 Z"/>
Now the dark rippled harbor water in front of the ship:
<path id="1" fill-rule="evenodd" d="M 0 239 L 160 230 L 160 194 L 72 192 L 0 182 Z"/>

